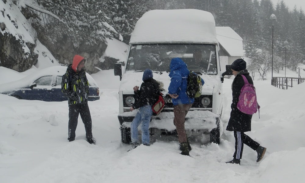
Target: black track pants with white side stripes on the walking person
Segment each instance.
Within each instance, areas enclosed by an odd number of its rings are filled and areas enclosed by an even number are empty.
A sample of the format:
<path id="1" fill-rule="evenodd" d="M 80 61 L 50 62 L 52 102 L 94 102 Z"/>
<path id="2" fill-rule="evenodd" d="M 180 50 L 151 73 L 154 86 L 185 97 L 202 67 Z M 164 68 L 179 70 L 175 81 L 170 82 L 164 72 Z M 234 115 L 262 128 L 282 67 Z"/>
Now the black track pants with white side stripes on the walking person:
<path id="1" fill-rule="evenodd" d="M 252 138 L 246 135 L 244 132 L 234 131 L 235 137 L 235 152 L 233 157 L 236 159 L 242 159 L 242 150 L 244 149 L 244 144 L 248 145 L 251 149 L 256 150 L 259 143 L 255 142 Z"/>

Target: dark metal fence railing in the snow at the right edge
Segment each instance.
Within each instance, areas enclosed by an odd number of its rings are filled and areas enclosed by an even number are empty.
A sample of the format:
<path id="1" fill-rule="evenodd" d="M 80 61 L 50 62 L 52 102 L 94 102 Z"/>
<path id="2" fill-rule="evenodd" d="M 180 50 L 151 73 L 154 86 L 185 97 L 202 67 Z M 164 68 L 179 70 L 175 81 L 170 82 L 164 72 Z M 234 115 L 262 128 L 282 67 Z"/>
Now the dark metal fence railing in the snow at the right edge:
<path id="1" fill-rule="evenodd" d="M 303 77 L 273 77 L 271 84 L 277 88 L 288 89 L 303 82 L 305 82 Z"/>

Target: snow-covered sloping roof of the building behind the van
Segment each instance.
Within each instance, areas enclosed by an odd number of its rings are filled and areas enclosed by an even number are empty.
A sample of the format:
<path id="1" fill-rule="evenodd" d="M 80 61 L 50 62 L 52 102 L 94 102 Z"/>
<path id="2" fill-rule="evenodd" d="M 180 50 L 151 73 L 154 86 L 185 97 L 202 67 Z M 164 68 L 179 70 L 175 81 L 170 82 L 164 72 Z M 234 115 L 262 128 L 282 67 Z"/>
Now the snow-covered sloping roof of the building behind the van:
<path id="1" fill-rule="evenodd" d="M 216 27 L 219 44 L 230 56 L 243 56 L 242 38 L 231 27 Z"/>

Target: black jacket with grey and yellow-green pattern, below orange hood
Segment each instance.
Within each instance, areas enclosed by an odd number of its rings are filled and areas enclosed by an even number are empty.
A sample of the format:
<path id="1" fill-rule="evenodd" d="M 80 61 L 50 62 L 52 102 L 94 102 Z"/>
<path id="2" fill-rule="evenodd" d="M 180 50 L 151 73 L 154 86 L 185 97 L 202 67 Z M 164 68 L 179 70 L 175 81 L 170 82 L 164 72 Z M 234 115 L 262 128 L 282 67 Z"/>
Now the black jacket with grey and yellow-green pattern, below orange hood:
<path id="1" fill-rule="evenodd" d="M 89 83 L 86 72 L 82 69 L 75 73 L 71 65 L 61 82 L 63 94 L 68 97 L 68 104 L 86 104 L 88 102 Z"/>

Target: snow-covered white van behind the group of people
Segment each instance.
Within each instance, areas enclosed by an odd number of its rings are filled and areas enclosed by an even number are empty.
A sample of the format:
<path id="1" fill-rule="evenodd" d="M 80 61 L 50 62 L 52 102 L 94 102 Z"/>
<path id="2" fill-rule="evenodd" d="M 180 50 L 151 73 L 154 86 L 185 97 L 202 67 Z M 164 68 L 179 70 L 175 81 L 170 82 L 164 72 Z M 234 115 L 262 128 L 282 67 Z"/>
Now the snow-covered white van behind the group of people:
<path id="1" fill-rule="evenodd" d="M 135 102 L 133 87 L 141 85 L 143 71 L 151 69 L 153 78 L 162 81 L 167 90 L 170 83 L 170 61 L 180 57 L 189 70 L 199 74 L 205 81 L 202 95 L 195 98 L 186 115 L 186 133 L 191 139 L 210 135 L 210 142 L 219 144 L 223 132 L 223 77 L 213 15 L 197 9 L 148 11 L 136 23 L 129 45 L 123 75 L 120 64 L 115 64 L 114 69 L 115 75 L 121 79 L 118 119 L 122 142 L 131 142 L 130 125 L 138 112 L 130 112 L 130 106 Z M 198 52 L 200 62 L 194 60 Z M 152 116 L 149 123 L 152 137 L 177 136 L 171 98 L 167 94 L 164 99 L 165 108 L 162 113 Z"/>

